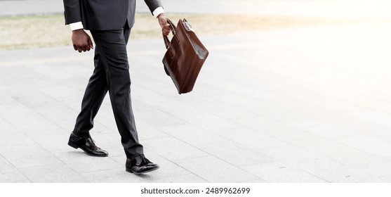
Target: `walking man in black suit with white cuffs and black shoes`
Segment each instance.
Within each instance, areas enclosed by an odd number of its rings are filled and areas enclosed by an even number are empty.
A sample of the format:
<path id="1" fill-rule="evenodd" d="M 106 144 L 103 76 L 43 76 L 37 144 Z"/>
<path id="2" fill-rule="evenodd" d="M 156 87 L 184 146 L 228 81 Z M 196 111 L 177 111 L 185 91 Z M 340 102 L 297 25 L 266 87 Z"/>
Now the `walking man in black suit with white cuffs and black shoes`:
<path id="1" fill-rule="evenodd" d="M 159 165 L 150 162 L 143 153 L 138 141 L 133 110 L 131 107 L 131 79 L 129 75 L 126 44 L 135 18 L 135 0 L 63 0 L 65 24 L 72 29 L 74 50 L 93 49 L 91 38 L 85 30 L 90 30 L 95 41 L 95 69 L 91 76 L 81 112 L 69 136 L 68 145 L 81 148 L 91 156 L 105 157 L 107 151 L 98 148 L 89 131 L 98 113 L 103 98 L 109 91 L 110 101 L 117 123 L 121 143 L 126 153 L 126 171 L 141 174 L 157 170 Z M 167 35 L 171 28 L 164 15 L 160 0 L 145 0 Z"/>

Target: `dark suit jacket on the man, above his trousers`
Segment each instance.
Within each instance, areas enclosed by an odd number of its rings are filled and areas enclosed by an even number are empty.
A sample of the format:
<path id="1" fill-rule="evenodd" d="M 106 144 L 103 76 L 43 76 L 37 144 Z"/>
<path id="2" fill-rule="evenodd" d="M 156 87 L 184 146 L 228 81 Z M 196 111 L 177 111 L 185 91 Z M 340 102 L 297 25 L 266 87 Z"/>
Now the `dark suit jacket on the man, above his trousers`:
<path id="1" fill-rule="evenodd" d="M 119 30 L 133 27 L 135 0 L 63 0 L 65 24 L 81 21 L 86 30 Z M 145 0 L 151 13 L 161 7 L 160 0 Z"/>

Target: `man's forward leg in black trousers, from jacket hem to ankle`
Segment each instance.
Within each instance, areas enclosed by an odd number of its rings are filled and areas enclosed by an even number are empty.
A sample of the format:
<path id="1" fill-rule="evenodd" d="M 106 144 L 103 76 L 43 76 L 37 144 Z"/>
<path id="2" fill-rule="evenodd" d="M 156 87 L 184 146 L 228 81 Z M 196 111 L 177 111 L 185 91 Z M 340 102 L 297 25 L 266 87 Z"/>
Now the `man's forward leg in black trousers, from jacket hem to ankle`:
<path id="1" fill-rule="evenodd" d="M 106 71 L 107 88 L 114 118 L 121 134 L 127 158 L 143 154 L 131 106 L 131 78 L 129 75 L 126 42 L 130 30 L 91 31 L 96 49 Z"/>

